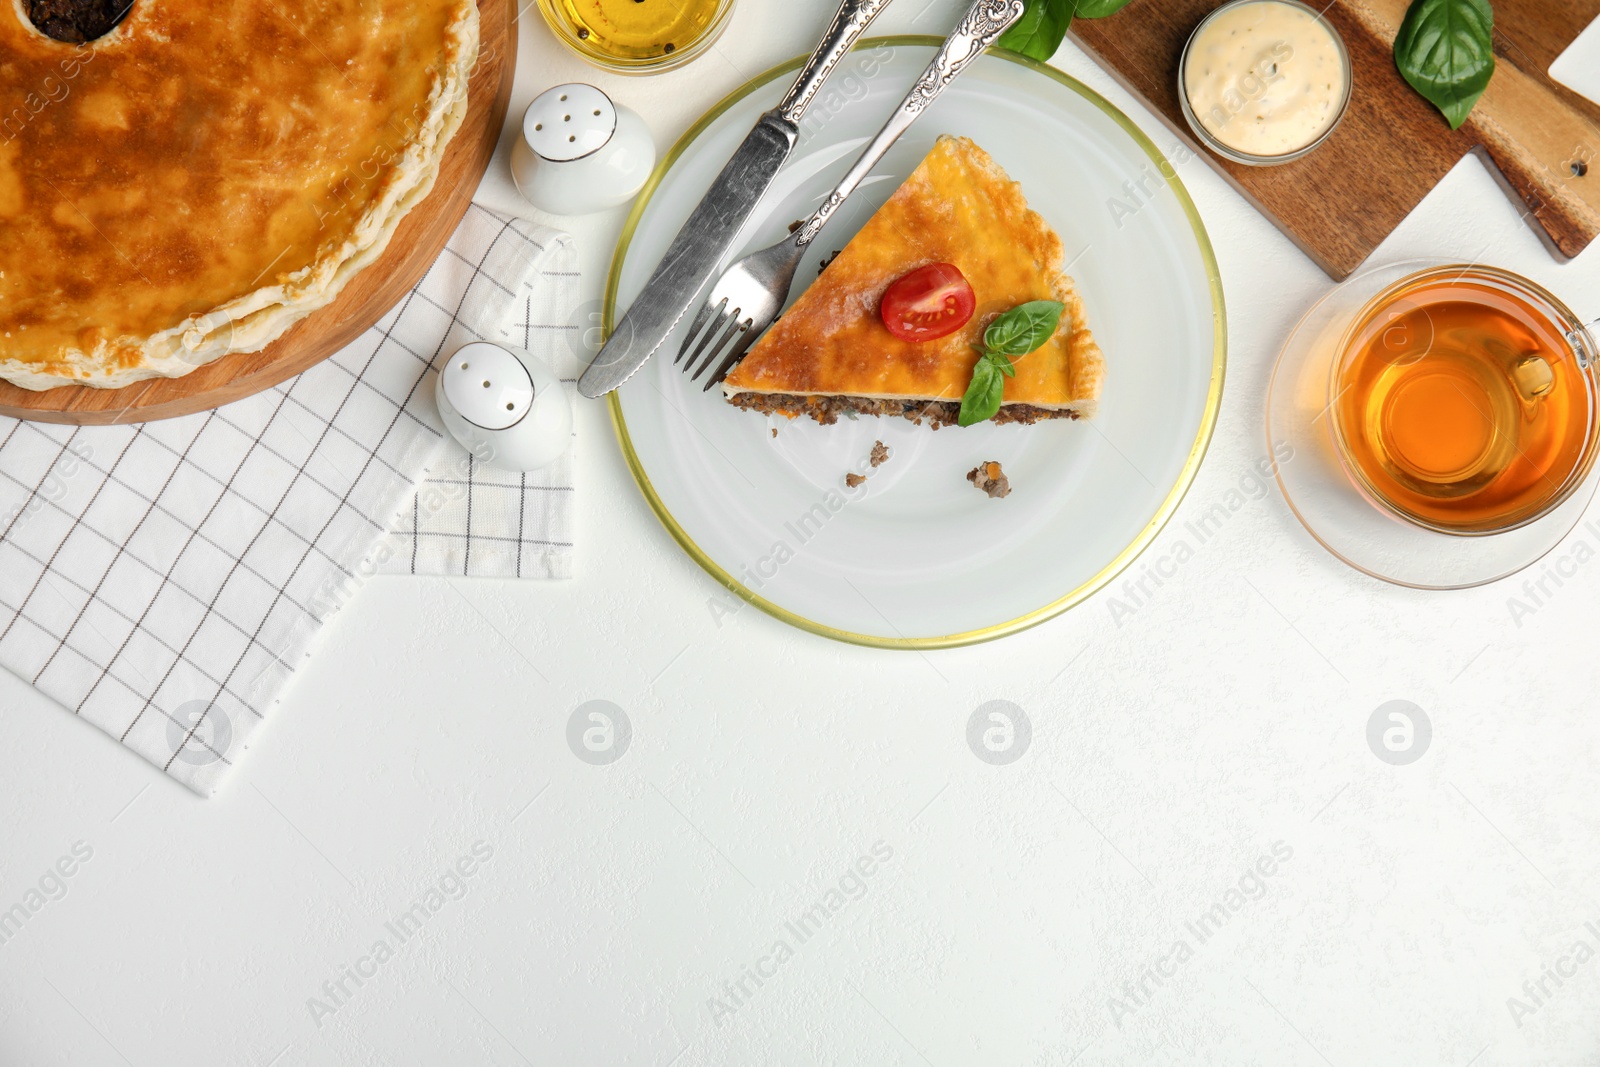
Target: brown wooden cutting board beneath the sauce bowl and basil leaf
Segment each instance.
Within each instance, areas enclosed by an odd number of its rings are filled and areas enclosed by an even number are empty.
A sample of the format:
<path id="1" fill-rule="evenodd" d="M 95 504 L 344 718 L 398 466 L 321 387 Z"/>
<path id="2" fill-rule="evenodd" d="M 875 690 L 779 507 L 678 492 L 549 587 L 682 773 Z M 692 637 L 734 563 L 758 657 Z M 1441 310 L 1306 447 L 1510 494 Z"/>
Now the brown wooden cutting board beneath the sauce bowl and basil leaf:
<path id="1" fill-rule="evenodd" d="M 1600 107 L 1546 72 L 1600 14 L 1600 0 L 1493 5 L 1494 78 L 1453 131 L 1395 69 L 1406 0 L 1330 3 L 1326 19 L 1344 35 L 1354 66 L 1350 107 L 1322 147 L 1280 166 L 1222 160 L 1200 147 L 1182 118 L 1178 59 L 1218 0 L 1134 0 L 1110 18 L 1078 19 L 1072 35 L 1334 278 L 1355 270 L 1478 149 L 1528 205 L 1552 250 L 1571 258 L 1600 234 Z M 1464 258 L 1482 251 L 1459 250 Z"/>

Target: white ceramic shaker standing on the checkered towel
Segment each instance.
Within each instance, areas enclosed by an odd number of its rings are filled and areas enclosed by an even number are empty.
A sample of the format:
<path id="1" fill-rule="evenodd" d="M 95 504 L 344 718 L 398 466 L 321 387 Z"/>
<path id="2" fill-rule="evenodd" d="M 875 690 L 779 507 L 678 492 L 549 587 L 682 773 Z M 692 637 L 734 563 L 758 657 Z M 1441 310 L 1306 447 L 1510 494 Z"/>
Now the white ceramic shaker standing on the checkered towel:
<path id="1" fill-rule="evenodd" d="M 438 373 L 434 397 L 450 435 L 501 470 L 538 470 L 573 437 L 573 405 L 560 379 L 523 349 L 462 346 Z"/>

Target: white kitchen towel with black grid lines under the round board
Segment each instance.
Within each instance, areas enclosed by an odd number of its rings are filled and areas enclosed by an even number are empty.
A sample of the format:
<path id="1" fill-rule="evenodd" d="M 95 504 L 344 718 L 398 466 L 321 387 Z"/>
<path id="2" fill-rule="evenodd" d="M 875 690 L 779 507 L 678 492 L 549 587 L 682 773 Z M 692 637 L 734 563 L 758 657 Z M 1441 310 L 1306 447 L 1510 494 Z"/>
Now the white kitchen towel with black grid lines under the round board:
<path id="1" fill-rule="evenodd" d="M 474 206 L 394 310 L 277 389 L 144 426 L 0 419 L 0 665 L 210 795 L 365 577 L 568 576 L 571 450 L 478 467 L 432 368 L 509 341 L 573 390 L 574 264 Z"/>

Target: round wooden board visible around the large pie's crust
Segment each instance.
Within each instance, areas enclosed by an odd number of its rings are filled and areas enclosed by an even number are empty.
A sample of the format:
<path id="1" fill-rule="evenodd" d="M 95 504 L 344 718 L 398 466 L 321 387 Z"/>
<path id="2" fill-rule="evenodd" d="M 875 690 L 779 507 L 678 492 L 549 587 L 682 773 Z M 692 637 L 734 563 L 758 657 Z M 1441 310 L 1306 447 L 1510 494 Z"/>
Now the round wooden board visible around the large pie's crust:
<path id="1" fill-rule="evenodd" d="M 509 0 L 478 0 L 478 16 L 482 45 L 467 90 L 467 118 L 445 149 L 434 192 L 402 219 L 384 254 L 355 275 L 339 299 L 261 352 L 227 355 L 184 378 L 155 378 L 126 389 L 62 386 L 46 392 L 0 381 L 0 416 L 72 426 L 173 419 L 272 389 L 360 338 L 427 274 L 494 157 L 517 72 L 517 27 Z"/>

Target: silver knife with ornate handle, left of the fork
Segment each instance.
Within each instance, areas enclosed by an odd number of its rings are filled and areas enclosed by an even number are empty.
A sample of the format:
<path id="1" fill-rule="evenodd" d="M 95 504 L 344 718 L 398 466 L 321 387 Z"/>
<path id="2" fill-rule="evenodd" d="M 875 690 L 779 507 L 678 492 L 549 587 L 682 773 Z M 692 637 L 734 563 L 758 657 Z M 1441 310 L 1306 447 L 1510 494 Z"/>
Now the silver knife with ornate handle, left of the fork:
<path id="1" fill-rule="evenodd" d="M 590 398 L 603 397 L 626 382 L 694 307 L 699 291 L 717 274 L 722 258 L 794 150 L 806 107 L 851 45 L 888 5 L 890 0 L 843 0 L 827 35 L 800 70 L 789 94 L 762 115 L 712 182 L 638 299 L 578 379 L 578 392 Z"/>

